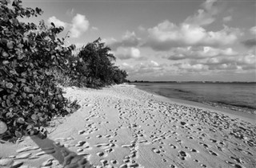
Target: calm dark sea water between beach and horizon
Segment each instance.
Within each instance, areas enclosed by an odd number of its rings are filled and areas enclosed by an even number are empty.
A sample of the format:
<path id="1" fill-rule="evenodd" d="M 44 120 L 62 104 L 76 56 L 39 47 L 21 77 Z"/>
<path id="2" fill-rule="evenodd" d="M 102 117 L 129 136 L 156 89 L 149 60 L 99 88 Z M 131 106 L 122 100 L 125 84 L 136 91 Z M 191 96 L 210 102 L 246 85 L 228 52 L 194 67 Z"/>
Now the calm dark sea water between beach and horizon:
<path id="1" fill-rule="evenodd" d="M 256 114 L 256 84 L 133 83 L 158 95 Z"/>

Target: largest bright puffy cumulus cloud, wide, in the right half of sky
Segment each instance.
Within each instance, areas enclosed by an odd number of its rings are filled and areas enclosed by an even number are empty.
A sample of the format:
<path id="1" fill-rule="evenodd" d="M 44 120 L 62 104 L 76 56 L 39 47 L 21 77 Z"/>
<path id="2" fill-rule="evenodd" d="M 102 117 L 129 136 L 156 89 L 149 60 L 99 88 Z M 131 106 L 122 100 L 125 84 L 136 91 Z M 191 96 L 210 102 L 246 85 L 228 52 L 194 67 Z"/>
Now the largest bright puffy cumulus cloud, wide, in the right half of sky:
<path id="1" fill-rule="evenodd" d="M 224 25 L 219 31 L 209 31 L 198 25 L 175 25 L 170 21 L 163 21 L 157 26 L 148 29 L 149 38 L 144 46 L 150 46 L 154 50 L 169 50 L 177 46 L 231 45 L 242 35 L 239 29 Z"/>

